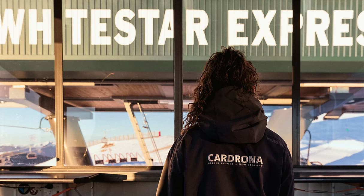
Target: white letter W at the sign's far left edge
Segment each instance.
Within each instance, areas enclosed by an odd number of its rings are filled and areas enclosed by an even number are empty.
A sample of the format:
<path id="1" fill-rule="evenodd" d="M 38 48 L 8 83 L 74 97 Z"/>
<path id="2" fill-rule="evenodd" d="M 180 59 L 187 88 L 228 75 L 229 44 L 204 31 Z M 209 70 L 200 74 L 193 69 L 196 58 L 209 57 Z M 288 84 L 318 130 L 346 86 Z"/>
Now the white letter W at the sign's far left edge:
<path id="1" fill-rule="evenodd" d="M 19 45 L 24 12 L 24 9 L 18 9 L 16 21 L 14 21 L 13 9 L 5 9 L 3 20 L 0 15 L 0 44 L 6 43 L 9 31 L 11 43 Z"/>

